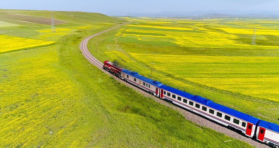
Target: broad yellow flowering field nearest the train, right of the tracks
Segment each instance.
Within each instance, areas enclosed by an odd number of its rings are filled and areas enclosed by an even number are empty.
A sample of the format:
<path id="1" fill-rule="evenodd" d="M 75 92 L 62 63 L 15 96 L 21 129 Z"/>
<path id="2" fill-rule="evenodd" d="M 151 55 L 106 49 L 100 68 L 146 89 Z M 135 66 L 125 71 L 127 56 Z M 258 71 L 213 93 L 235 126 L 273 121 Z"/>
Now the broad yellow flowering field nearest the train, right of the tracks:
<path id="1" fill-rule="evenodd" d="M 279 101 L 279 57 L 129 54 L 146 65 L 152 59 L 155 69 L 181 79 Z"/>

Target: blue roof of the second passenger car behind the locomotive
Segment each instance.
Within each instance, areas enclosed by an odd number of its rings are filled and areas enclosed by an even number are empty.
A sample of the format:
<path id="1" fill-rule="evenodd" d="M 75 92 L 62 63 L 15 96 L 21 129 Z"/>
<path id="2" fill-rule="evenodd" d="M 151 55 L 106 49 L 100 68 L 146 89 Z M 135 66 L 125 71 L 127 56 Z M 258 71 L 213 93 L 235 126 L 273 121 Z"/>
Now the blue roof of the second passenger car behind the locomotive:
<path id="1" fill-rule="evenodd" d="M 206 99 L 206 98 L 201 97 L 201 96 L 189 94 L 187 92 L 183 92 L 182 90 L 178 90 L 176 88 L 173 88 L 173 87 L 170 87 L 170 86 L 167 86 L 167 85 L 162 85 L 160 88 L 163 89 L 163 90 L 167 90 L 169 92 L 173 92 L 173 93 L 175 93 L 177 95 L 180 95 L 182 97 L 191 99 L 191 100 L 196 101 L 198 103 L 201 103 L 205 106 L 215 108 L 216 110 L 227 113 L 229 115 L 232 115 L 234 117 L 237 117 L 239 119 L 248 121 L 248 122 L 253 123 L 253 124 L 257 124 L 257 122 L 260 121 L 260 119 L 255 118 L 251 115 L 248 115 L 248 114 L 242 113 L 240 111 L 234 110 L 232 108 L 228 108 L 226 106 L 217 104 L 217 103 L 213 102 L 212 100 Z"/>

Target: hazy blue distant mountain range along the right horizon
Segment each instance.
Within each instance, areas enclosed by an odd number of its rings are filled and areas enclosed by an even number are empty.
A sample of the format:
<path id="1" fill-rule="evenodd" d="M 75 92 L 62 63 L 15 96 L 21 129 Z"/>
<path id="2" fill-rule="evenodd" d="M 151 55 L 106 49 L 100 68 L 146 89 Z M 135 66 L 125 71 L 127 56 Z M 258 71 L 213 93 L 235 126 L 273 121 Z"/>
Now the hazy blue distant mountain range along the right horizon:
<path id="1" fill-rule="evenodd" d="M 206 11 L 162 11 L 162 12 L 120 12 L 111 11 L 105 13 L 111 16 L 148 16 L 148 17 L 279 17 L 279 10 L 206 10 Z"/>

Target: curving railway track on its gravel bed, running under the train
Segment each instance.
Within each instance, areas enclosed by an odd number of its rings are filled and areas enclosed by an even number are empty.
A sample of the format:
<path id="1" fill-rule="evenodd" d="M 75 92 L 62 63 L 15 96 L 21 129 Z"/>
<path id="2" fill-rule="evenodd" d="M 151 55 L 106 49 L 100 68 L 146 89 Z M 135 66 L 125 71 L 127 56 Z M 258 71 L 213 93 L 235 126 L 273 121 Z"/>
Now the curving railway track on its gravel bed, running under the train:
<path id="1" fill-rule="evenodd" d="M 225 134 L 225 135 L 227 135 L 227 136 L 229 136 L 229 137 L 232 137 L 232 138 L 235 138 L 235 139 L 238 139 L 238 140 L 242 140 L 242 141 L 247 142 L 247 143 L 249 143 L 250 145 L 255 146 L 255 147 L 257 147 L 257 148 L 270 148 L 270 147 L 267 146 L 267 145 L 264 145 L 264 144 L 262 144 L 262 143 L 260 143 L 260 142 L 257 142 L 257 141 L 255 141 L 255 140 L 253 140 L 253 139 L 251 139 L 251 138 L 248 138 L 248 137 L 246 137 L 246 136 L 244 136 L 244 135 L 241 135 L 241 134 L 239 134 L 237 131 L 232 131 L 232 130 L 228 129 L 227 127 L 224 127 L 224 126 L 222 126 L 222 125 L 220 125 L 220 124 L 214 123 L 214 122 L 212 122 L 212 121 L 210 121 L 210 120 L 208 120 L 208 119 L 206 119 L 206 118 L 204 118 L 204 117 L 202 117 L 202 116 L 200 116 L 200 115 L 198 115 L 198 114 L 196 114 L 196 113 L 193 113 L 193 112 L 191 112 L 191 111 L 189 111 L 189 110 L 185 110 L 185 109 L 183 109 L 183 108 L 179 108 L 179 107 L 177 107 L 177 106 L 173 106 L 173 105 L 167 103 L 166 101 L 163 101 L 162 99 L 156 98 L 155 96 L 151 96 L 149 93 L 144 92 L 143 90 L 141 90 L 141 89 L 139 89 L 139 88 L 137 88 L 137 87 L 135 87 L 135 86 L 133 86 L 133 85 L 131 85 L 131 84 L 129 84 L 129 83 L 126 83 L 126 82 L 124 82 L 124 81 L 121 81 L 118 77 L 116 77 L 116 76 L 110 74 L 109 72 L 105 71 L 105 70 L 103 69 L 103 62 L 97 60 L 97 59 L 90 53 L 90 51 L 88 50 L 88 48 L 87 48 L 87 42 L 90 40 L 90 38 L 92 38 L 92 37 L 94 37 L 94 36 L 96 36 L 96 35 L 99 35 L 99 34 L 104 33 L 104 32 L 106 32 L 106 31 L 110 31 L 110 30 L 112 30 L 112 29 L 115 29 L 115 28 L 117 28 L 117 27 L 126 25 L 126 24 L 128 24 L 128 23 L 129 23 L 129 22 L 127 22 L 127 23 L 125 23 L 125 24 L 121 24 L 121 25 L 115 26 L 115 27 L 113 27 L 113 28 L 110 28 L 110 29 L 107 29 L 107 30 L 104 30 L 104 31 L 101 31 L 101 32 L 96 33 L 96 34 L 93 34 L 93 35 L 90 35 L 90 36 L 88 36 L 87 38 L 85 38 L 84 40 L 82 40 L 82 42 L 81 42 L 81 44 L 80 44 L 80 49 L 81 49 L 82 54 L 85 56 L 85 58 L 86 58 L 90 63 L 92 63 L 93 65 L 95 65 L 96 67 L 98 67 L 100 70 L 102 70 L 102 71 L 105 72 L 106 74 L 112 76 L 115 80 L 120 81 L 121 83 L 125 84 L 126 86 L 128 86 L 128 87 L 130 87 L 130 88 L 133 88 L 134 90 L 136 90 L 136 91 L 142 93 L 142 94 L 145 95 L 145 96 L 148 96 L 148 97 L 153 98 L 155 101 L 157 101 L 157 102 L 159 102 L 159 103 L 161 103 L 161 104 L 164 104 L 165 106 L 168 106 L 168 107 L 170 107 L 170 108 L 173 108 L 173 109 L 175 109 L 175 110 L 178 110 L 180 113 L 182 113 L 182 114 L 184 115 L 184 117 L 185 117 L 186 120 L 190 120 L 190 121 L 195 122 L 195 123 L 197 123 L 197 124 L 199 124 L 199 125 L 201 125 L 201 126 L 205 126 L 205 127 L 210 128 L 210 129 L 214 129 L 215 131 L 218 131 L 218 132 L 220 132 L 220 133 L 223 133 L 223 134 Z M 229 141 L 231 141 L 231 140 L 224 141 L 224 142 L 229 142 Z"/>

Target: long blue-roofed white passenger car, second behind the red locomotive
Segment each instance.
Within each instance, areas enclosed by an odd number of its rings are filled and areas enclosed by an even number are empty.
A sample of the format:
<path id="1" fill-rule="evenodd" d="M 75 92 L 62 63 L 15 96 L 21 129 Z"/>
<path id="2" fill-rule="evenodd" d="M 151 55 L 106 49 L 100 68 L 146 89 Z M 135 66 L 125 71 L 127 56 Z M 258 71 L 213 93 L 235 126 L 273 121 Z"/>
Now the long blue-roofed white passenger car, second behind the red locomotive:
<path id="1" fill-rule="evenodd" d="M 253 137 L 260 119 L 237 110 L 214 103 L 212 100 L 183 92 L 167 85 L 161 85 L 160 98 L 168 99 L 174 104 L 205 116 L 225 126 L 242 131 Z"/>

